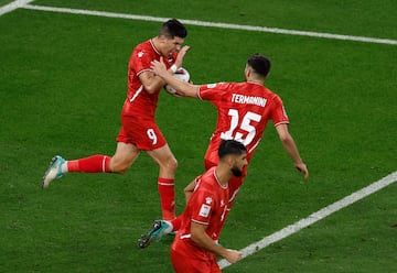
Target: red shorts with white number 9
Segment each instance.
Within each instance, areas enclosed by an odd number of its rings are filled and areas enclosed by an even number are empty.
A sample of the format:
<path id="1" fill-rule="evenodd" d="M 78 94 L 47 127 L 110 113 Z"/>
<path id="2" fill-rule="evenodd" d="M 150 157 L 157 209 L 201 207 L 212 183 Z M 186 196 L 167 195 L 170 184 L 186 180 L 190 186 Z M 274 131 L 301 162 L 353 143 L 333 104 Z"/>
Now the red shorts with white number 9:
<path id="1" fill-rule="evenodd" d="M 142 120 L 131 116 L 121 116 L 121 129 L 118 142 L 131 143 L 139 150 L 152 151 L 167 144 L 165 138 L 154 120 Z"/>

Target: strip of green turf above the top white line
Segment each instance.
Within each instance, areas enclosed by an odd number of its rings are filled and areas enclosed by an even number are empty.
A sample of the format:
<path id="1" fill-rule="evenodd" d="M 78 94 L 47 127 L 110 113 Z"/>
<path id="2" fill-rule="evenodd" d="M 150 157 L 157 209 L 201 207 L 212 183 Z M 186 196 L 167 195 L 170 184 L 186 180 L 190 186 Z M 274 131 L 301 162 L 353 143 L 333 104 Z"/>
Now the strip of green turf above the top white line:
<path id="1" fill-rule="evenodd" d="M 292 30 L 397 39 L 397 2 L 394 0 L 218 0 L 218 1 L 96 1 L 39 0 L 54 7 L 176 17 L 212 22 L 239 23 Z"/>

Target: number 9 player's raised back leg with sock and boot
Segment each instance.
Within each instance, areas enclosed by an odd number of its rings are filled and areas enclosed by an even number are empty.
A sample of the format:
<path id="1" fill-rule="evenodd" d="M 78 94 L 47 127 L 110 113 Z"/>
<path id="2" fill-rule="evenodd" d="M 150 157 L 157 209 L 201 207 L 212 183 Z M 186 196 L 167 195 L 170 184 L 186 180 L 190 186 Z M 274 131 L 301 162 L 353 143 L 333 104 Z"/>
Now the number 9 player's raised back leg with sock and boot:
<path id="1" fill-rule="evenodd" d="M 65 161 L 56 155 L 50 163 L 50 167 L 43 177 L 43 188 L 46 188 L 55 178 L 71 172 L 78 173 L 125 173 L 137 160 L 139 150 L 133 144 L 117 143 L 116 153 L 112 157 L 96 154 L 88 157 Z"/>

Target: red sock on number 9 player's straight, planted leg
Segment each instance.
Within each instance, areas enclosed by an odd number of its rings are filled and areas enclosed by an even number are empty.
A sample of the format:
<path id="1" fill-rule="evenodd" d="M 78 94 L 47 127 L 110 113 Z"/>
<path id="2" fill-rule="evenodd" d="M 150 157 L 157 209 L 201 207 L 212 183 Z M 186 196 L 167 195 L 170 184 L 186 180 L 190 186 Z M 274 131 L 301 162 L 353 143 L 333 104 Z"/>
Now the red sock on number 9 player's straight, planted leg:
<path id="1" fill-rule="evenodd" d="M 159 177 L 159 194 L 161 199 L 161 210 L 164 220 L 175 218 L 175 190 L 174 179 Z"/>

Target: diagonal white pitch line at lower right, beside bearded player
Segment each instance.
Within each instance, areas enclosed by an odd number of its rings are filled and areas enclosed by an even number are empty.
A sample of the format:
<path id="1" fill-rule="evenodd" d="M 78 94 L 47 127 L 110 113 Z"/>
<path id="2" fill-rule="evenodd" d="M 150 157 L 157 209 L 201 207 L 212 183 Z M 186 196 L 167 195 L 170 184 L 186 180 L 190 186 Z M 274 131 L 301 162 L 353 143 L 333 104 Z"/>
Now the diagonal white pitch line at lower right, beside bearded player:
<path id="1" fill-rule="evenodd" d="M 311 214 L 309 217 L 301 219 L 268 237 L 265 237 L 260 241 L 249 244 L 248 247 L 240 250 L 243 252 L 243 259 L 254 254 L 255 252 L 258 252 L 261 249 L 265 249 L 266 247 L 270 245 L 273 242 L 277 242 L 281 239 L 285 239 L 286 237 L 297 233 L 301 229 L 307 228 L 310 225 L 313 225 L 314 222 L 320 221 L 321 219 L 332 215 L 333 212 L 336 212 L 337 210 L 347 207 L 353 203 L 367 197 L 368 195 L 376 193 L 377 190 L 395 183 L 396 181 L 397 181 L 397 172 L 394 172 L 387 175 L 386 177 L 371 184 L 369 186 L 364 187 L 342 198 L 341 200 L 335 201 L 334 204 L 331 204 L 330 206 L 320 209 L 314 214 Z M 225 269 L 228 265 L 230 265 L 230 263 L 227 262 L 225 259 L 218 261 L 218 264 L 221 269 Z"/>

